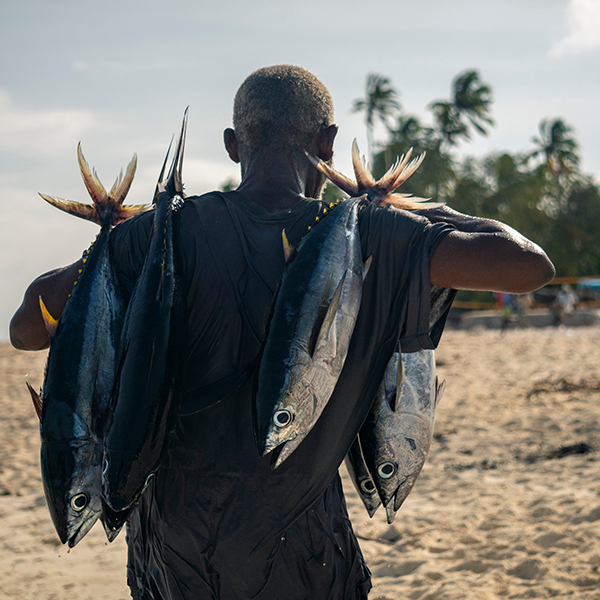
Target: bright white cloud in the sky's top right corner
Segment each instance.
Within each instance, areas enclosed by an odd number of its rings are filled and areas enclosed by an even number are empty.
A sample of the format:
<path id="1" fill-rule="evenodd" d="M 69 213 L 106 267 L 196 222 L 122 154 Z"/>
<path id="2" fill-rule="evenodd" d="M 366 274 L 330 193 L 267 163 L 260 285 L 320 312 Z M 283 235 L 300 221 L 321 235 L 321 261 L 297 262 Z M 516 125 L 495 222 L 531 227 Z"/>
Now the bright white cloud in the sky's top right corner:
<path id="1" fill-rule="evenodd" d="M 582 54 L 600 48 L 600 0 L 570 0 L 567 35 L 552 48 L 552 56 Z"/>

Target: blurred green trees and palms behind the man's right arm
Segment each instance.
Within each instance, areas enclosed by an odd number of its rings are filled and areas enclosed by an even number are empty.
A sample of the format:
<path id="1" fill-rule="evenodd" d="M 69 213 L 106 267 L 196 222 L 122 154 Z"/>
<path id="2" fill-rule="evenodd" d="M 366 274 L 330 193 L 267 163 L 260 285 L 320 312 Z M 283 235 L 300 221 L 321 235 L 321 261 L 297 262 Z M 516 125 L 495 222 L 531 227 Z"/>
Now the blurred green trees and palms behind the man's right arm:
<path id="1" fill-rule="evenodd" d="M 468 141 L 472 132 L 486 135 L 493 125 L 492 91 L 476 71 L 465 71 L 454 79 L 451 96 L 429 105 L 431 125 L 399 115 L 388 127 L 389 138 L 376 144 L 374 176 L 410 148 L 415 155 L 426 152 L 399 191 L 514 227 L 546 250 L 559 277 L 599 275 L 600 188 L 579 171 L 573 128 L 561 118 L 543 119 L 533 149 L 458 160 L 458 141 Z"/>

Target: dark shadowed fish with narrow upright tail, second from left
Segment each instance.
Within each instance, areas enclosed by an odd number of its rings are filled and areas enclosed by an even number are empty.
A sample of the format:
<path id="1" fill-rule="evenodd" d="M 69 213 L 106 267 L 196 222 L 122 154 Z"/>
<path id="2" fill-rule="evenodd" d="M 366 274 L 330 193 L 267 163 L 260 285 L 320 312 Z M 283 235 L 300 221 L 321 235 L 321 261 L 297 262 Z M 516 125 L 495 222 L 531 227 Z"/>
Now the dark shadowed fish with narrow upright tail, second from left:
<path id="1" fill-rule="evenodd" d="M 178 231 L 187 109 L 171 168 L 155 193 L 154 225 L 123 324 L 112 418 L 105 437 L 104 499 L 130 510 L 168 449 L 181 404 L 187 319 L 180 284 Z"/>

